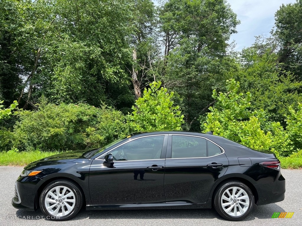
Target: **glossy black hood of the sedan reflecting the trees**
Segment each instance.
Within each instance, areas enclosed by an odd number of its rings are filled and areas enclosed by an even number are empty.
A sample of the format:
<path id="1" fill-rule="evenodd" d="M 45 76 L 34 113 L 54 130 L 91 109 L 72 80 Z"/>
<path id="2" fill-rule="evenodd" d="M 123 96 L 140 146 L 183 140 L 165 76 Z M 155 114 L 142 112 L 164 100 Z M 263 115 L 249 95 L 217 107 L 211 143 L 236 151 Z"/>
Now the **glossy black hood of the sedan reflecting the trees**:
<path id="1" fill-rule="evenodd" d="M 65 153 L 61 153 L 61 154 L 57 154 L 57 155 L 51 155 L 44 159 L 40 159 L 40 160 L 37 160 L 35 162 L 28 164 L 24 169 L 30 170 L 31 168 L 38 167 L 38 166 L 63 164 L 66 162 L 72 162 L 72 161 L 75 161 L 76 159 L 84 158 L 83 157 L 84 153 L 87 151 L 90 151 L 90 150 L 93 150 L 93 149 L 81 150 L 81 151 L 71 151 L 71 152 L 65 152 Z"/>

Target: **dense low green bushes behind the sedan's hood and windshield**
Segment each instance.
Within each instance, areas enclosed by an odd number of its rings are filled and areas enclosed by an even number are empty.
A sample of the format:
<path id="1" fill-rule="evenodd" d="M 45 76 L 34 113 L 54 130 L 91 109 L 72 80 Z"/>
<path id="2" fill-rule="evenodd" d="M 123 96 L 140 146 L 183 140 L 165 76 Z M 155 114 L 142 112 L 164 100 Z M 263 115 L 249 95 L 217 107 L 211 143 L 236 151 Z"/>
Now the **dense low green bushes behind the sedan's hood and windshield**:
<path id="1" fill-rule="evenodd" d="M 19 111 L 14 146 L 19 150 L 68 150 L 99 147 L 128 133 L 125 116 L 87 104 L 45 104 Z"/>

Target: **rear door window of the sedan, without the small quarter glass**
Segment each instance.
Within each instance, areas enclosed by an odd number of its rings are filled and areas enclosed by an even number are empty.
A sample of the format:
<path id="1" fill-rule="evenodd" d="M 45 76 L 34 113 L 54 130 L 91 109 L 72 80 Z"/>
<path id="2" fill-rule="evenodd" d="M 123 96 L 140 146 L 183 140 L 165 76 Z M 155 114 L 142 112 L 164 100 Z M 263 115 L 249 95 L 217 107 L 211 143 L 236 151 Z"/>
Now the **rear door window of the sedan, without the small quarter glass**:
<path id="1" fill-rule="evenodd" d="M 172 159 L 207 157 L 207 140 L 201 137 L 172 136 Z"/>

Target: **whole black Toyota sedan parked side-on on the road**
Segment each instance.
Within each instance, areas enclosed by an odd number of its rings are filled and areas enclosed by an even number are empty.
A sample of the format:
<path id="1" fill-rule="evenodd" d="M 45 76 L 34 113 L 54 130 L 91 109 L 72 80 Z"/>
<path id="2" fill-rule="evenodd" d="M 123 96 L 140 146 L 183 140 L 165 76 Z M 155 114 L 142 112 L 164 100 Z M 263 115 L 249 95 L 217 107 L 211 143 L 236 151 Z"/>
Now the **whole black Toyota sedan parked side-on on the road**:
<path id="1" fill-rule="evenodd" d="M 12 205 L 68 220 L 86 209 L 211 208 L 228 220 L 284 199 L 280 162 L 223 137 L 186 131 L 133 133 L 101 148 L 27 165 Z"/>

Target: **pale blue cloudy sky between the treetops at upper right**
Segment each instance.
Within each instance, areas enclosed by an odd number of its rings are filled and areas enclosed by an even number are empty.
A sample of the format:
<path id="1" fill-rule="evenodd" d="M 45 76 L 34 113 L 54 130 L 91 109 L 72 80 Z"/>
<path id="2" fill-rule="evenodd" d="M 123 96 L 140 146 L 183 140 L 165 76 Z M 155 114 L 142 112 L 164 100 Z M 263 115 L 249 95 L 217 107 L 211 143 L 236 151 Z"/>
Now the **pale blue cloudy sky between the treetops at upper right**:
<path id="1" fill-rule="evenodd" d="M 275 23 L 275 12 L 282 4 L 294 3 L 295 0 L 227 0 L 241 23 L 238 33 L 233 34 L 230 42 L 235 40 L 234 50 L 240 51 L 255 42 L 255 36 L 270 35 Z"/>

